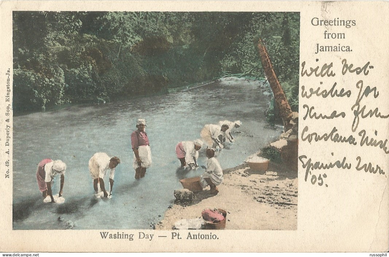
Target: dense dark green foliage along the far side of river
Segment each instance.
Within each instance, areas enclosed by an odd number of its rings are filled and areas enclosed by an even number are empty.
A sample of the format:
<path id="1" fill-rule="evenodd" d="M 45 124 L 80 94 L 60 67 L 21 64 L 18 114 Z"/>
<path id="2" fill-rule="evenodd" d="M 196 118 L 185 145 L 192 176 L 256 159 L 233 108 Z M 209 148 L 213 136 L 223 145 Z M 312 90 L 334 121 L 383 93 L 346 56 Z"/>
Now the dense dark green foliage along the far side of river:
<path id="1" fill-rule="evenodd" d="M 108 101 L 239 74 L 263 77 L 261 37 L 298 105 L 299 14 L 14 12 L 14 110 Z"/>

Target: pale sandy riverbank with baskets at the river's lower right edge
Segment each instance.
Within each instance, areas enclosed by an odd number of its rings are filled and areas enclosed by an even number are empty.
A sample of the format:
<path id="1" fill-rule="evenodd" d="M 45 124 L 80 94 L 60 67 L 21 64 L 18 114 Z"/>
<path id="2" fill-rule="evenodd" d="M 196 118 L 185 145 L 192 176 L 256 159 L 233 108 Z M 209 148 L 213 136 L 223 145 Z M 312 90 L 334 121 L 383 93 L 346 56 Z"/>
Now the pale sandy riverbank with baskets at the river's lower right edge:
<path id="1" fill-rule="evenodd" d="M 206 208 L 227 211 L 226 229 L 297 229 L 297 172 L 270 163 L 265 174 L 247 165 L 224 170 L 217 195 L 202 191 L 187 206 L 174 204 L 156 229 L 172 229 L 180 219 L 201 217 Z"/>

